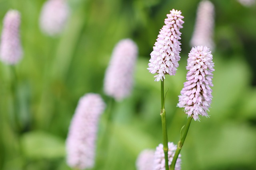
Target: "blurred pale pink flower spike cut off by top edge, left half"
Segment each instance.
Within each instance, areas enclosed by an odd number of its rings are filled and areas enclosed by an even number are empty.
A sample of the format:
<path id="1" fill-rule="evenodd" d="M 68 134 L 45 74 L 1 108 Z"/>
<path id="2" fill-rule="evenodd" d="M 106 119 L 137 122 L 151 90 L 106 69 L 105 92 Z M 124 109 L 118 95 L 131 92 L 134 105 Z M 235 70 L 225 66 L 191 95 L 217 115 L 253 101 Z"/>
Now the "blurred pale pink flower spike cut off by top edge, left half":
<path id="1" fill-rule="evenodd" d="M 46 1 L 42 7 L 39 20 L 42 32 L 50 36 L 60 34 L 66 25 L 69 12 L 66 0 Z"/>

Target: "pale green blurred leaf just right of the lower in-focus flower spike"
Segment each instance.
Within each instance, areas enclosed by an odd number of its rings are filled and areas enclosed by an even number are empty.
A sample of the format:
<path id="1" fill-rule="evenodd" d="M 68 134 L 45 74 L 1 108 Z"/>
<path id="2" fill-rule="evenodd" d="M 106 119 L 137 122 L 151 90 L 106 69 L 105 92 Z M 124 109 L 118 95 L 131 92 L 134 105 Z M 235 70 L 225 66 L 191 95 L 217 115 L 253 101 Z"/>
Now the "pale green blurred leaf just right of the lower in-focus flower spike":
<path id="1" fill-rule="evenodd" d="M 249 84 L 250 72 L 240 59 L 224 61 L 216 56 L 214 63 L 213 99 L 209 114 L 219 121 L 233 114 L 234 106 L 244 96 L 244 87 Z"/>

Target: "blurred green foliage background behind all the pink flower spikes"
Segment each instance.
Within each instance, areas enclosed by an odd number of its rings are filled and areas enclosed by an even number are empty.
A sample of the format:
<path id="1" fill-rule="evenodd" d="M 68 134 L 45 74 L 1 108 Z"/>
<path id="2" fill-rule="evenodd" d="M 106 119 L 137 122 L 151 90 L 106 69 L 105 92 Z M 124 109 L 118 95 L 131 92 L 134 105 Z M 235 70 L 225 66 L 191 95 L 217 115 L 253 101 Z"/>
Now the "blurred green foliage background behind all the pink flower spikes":
<path id="1" fill-rule="evenodd" d="M 0 20 L 9 9 L 21 13 L 23 59 L 0 63 L 0 170 L 70 170 L 65 140 L 81 96 L 103 92 L 115 44 L 133 39 L 139 48 L 132 94 L 111 109 L 108 145 L 97 148 L 95 170 L 136 170 L 144 149 L 162 143 L 160 82 L 146 69 L 166 14 L 181 10 L 181 60 L 176 76 L 166 76 L 169 141 L 178 143 L 187 117 L 176 107 L 186 80 L 199 0 L 69 0 L 70 17 L 61 35 L 39 27 L 44 0 L 0 0 Z M 215 6 L 215 71 L 210 118 L 192 121 L 182 154 L 182 170 L 256 169 L 256 6 L 211 0 Z M 2 21 L 0 30 L 2 30 Z M 17 78 L 14 78 L 13 70 Z M 14 82 L 14 80 L 16 80 Z M 18 105 L 12 92 L 16 86 Z M 19 131 L 14 130 L 18 110 Z M 104 115 L 99 135 L 104 131 Z M 18 135 L 17 135 L 18 134 Z M 22 153 L 22 154 L 21 154 Z"/>

